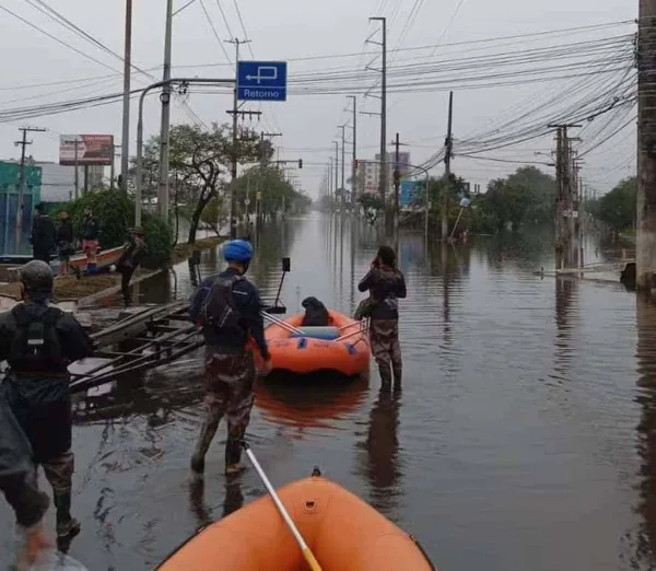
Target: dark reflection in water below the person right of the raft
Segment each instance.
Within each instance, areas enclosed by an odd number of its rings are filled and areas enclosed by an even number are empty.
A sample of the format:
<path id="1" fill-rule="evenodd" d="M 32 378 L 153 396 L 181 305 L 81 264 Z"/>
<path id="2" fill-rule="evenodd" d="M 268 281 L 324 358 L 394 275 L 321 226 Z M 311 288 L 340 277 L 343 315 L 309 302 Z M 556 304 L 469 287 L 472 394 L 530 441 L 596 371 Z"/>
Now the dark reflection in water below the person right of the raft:
<path id="1" fill-rule="evenodd" d="M 384 385 L 370 412 L 364 447 L 364 475 L 371 486 L 371 503 L 388 517 L 398 520 L 403 496 L 399 458 L 399 410 L 401 385 Z"/>

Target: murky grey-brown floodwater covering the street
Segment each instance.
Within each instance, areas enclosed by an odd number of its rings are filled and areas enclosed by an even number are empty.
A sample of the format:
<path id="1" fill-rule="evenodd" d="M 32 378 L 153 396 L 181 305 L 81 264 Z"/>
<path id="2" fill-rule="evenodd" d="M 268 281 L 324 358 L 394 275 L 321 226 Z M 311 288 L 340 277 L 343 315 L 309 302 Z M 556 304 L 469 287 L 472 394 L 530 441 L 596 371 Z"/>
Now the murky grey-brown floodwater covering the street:
<path id="1" fill-rule="evenodd" d="M 349 220 L 289 220 L 259 236 L 250 275 L 272 299 L 290 256 L 290 311 L 315 295 L 352 312 L 380 241 Z M 442 571 L 656 569 L 656 310 L 619 283 L 534 275 L 553 267 L 548 235 L 393 242 L 408 281 L 402 389 L 382 393 L 375 368 L 345 387 L 258 387 L 249 438 L 271 481 L 320 466 L 412 533 Z M 586 249 L 588 263 L 619 256 Z M 203 253 L 200 276 L 220 266 Z M 198 277 L 181 264 L 136 295 L 184 299 Z M 190 483 L 200 387 L 188 358 L 79 404 L 83 532 L 70 555 L 90 570 L 151 569 L 265 493 L 253 469 L 226 485 L 224 428 L 204 487 Z M 0 529 L 10 521 L 2 506 Z M 0 531 L 0 548 L 8 537 Z"/>

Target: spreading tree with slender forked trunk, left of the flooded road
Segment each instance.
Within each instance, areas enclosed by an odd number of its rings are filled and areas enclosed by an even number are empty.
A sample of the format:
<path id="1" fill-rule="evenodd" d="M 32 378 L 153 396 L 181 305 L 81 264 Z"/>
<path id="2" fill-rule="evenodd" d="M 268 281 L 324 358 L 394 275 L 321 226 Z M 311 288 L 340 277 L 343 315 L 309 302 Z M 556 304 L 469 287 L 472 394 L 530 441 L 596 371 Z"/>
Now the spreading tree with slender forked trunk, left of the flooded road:
<path id="1" fill-rule="evenodd" d="M 271 152 L 269 145 L 262 148 L 259 137 L 247 129 L 239 130 L 237 144 L 233 147 L 230 126 L 216 124 L 209 130 L 197 125 L 175 125 L 171 128 L 168 144 L 171 185 L 181 184 L 189 194 L 186 197 L 190 205 L 189 244 L 196 242 L 198 224 L 208 203 L 227 194 L 224 189 L 233 155 L 238 162 L 253 162 Z M 148 141 L 143 155 L 147 173 L 159 168 L 159 137 Z"/>

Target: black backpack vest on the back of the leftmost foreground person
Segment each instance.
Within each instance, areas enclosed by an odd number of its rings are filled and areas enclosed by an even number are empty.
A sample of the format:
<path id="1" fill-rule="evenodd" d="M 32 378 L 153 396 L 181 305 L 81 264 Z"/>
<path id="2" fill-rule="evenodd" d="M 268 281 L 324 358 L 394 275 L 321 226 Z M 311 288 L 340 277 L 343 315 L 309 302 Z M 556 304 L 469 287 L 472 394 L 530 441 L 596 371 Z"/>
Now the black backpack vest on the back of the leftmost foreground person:
<path id="1" fill-rule="evenodd" d="M 56 329 L 63 312 L 48 307 L 40 317 L 36 317 L 27 314 L 25 305 L 16 305 L 11 314 L 17 326 L 8 359 L 12 372 L 67 373 L 67 361 Z"/>

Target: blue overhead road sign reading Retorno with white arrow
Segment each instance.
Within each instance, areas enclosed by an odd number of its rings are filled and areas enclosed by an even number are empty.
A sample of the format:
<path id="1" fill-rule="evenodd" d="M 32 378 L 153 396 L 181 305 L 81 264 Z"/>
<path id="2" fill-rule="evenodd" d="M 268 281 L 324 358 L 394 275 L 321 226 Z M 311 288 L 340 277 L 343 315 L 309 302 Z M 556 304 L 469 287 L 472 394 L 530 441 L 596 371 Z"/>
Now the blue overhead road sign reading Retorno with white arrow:
<path id="1" fill-rule="evenodd" d="M 286 61 L 239 61 L 237 100 L 286 101 Z"/>

